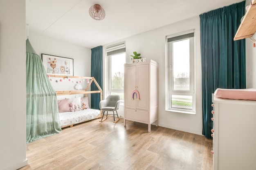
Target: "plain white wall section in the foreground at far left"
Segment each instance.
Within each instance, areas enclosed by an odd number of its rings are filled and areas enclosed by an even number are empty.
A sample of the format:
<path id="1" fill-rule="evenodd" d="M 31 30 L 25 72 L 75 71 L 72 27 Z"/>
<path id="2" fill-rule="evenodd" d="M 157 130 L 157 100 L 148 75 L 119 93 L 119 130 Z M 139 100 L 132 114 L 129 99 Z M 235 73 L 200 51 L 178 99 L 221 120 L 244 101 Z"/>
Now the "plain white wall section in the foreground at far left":
<path id="1" fill-rule="evenodd" d="M 0 0 L 0 170 L 27 165 L 25 0 Z"/>

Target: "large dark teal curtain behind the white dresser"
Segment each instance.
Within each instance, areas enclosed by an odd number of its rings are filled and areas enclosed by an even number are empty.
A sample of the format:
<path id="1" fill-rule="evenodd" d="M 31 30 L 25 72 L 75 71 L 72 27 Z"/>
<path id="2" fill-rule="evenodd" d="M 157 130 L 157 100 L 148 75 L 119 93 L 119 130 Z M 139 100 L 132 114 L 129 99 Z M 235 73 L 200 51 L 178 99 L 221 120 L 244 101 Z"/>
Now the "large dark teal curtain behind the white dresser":
<path id="1" fill-rule="evenodd" d="M 234 41 L 245 1 L 200 15 L 203 135 L 211 137 L 212 93 L 246 88 L 245 40 Z"/>

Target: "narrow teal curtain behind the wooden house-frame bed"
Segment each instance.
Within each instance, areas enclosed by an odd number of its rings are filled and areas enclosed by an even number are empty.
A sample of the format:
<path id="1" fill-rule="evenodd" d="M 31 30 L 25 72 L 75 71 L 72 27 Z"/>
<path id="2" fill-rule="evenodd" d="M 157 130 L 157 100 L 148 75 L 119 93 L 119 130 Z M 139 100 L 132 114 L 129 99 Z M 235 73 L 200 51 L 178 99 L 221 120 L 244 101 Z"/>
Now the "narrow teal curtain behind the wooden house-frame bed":
<path id="1" fill-rule="evenodd" d="M 102 46 L 97 46 L 92 50 L 92 56 L 91 56 L 91 76 L 96 79 L 99 86 L 102 89 Z M 98 90 L 98 87 L 93 82 L 91 84 L 91 91 Z M 91 108 L 99 109 L 99 102 L 101 101 L 101 94 L 100 93 L 92 93 L 91 94 Z"/>

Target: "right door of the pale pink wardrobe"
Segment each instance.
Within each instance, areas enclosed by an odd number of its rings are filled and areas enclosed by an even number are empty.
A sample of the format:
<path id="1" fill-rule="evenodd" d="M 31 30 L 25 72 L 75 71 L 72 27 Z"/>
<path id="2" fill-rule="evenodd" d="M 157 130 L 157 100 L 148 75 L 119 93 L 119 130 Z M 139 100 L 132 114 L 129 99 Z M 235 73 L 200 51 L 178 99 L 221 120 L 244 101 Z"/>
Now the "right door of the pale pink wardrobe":
<path id="1" fill-rule="evenodd" d="M 136 100 L 136 108 L 148 110 L 148 64 L 136 66 L 136 82 L 136 90 L 139 92 L 139 100 Z"/>

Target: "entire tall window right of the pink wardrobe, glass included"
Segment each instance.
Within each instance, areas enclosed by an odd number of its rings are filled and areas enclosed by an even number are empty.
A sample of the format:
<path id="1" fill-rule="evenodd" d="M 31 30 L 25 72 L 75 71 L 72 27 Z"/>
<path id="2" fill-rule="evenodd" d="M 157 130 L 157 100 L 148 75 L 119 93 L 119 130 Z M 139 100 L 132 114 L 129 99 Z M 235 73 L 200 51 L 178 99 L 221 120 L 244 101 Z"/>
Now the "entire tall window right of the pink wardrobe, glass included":
<path id="1" fill-rule="evenodd" d="M 168 36 L 166 110 L 195 113 L 194 32 Z"/>

